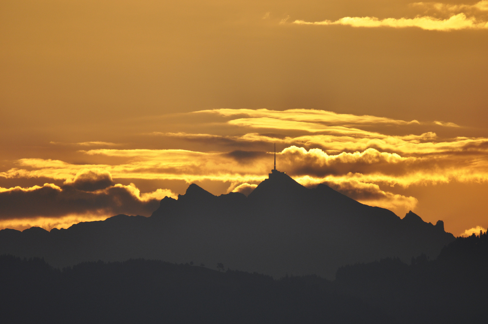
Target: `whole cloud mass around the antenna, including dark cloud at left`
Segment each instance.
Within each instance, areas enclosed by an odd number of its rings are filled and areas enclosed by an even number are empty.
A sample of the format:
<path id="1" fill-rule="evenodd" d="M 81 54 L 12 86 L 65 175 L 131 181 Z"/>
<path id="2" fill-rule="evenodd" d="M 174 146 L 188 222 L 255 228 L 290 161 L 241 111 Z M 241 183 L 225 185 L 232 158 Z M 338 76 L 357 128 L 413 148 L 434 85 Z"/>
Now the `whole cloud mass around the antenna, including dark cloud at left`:
<path id="1" fill-rule="evenodd" d="M 0 219 L 25 224 L 44 217 L 58 226 L 73 217 L 148 216 L 164 196 L 176 197 L 167 189 L 141 193 L 135 185 L 119 183 L 138 180 L 220 182 L 227 188 L 225 192 L 248 195 L 267 178 L 274 143 L 278 169 L 296 181 L 309 187 L 325 183 L 361 203 L 399 215 L 415 209 L 419 202 L 400 194 L 398 188 L 488 182 L 487 138 L 441 138 L 429 130 L 437 127 L 454 134 L 463 130 L 451 122 L 401 121 L 306 109 L 218 109 L 186 116 L 198 114 L 210 121 L 213 118 L 213 125 L 230 127 L 233 131 L 228 133 L 234 135 L 152 132 L 144 136 L 212 149 L 97 148 L 76 151 L 84 163 L 17 160 L 14 167 L 0 172 L 0 178 L 52 179 L 52 183 L 1 188 L 0 203 L 5 207 Z M 378 128 L 385 125 L 394 126 L 397 133 L 405 129 L 404 135 L 385 134 Z M 412 134 L 412 129 L 422 131 Z M 287 135 L 288 130 L 295 136 Z"/>

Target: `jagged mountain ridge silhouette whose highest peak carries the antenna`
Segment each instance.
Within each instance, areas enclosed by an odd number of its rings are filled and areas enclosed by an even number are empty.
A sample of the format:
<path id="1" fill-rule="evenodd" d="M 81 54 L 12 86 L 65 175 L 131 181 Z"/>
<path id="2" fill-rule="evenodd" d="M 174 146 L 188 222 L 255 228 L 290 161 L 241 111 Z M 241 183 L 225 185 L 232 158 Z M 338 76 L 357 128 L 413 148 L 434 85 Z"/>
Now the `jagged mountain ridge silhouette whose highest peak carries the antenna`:
<path id="1" fill-rule="evenodd" d="M 400 219 L 325 184 L 306 188 L 274 170 L 247 198 L 214 196 L 191 184 L 177 200 L 164 198 L 148 218 L 118 215 L 50 232 L 1 230 L 0 253 L 43 257 L 53 266 L 146 258 L 333 278 L 345 264 L 409 261 L 421 253 L 435 258 L 453 240 L 442 221 L 425 223 L 412 212 Z"/>

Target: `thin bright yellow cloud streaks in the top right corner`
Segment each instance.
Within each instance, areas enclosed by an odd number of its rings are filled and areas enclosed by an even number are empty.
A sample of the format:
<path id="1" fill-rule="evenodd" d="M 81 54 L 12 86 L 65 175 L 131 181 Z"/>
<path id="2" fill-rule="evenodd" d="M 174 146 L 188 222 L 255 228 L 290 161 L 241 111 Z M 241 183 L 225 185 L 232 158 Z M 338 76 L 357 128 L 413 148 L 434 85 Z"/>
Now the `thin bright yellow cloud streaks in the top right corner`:
<path id="1" fill-rule="evenodd" d="M 433 16 L 416 16 L 414 18 L 385 18 L 376 17 L 344 17 L 338 20 L 305 21 L 295 20 L 298 25 L 347 25 L 352 27 L 392 27 L 406 28 L 418 27 L 425 30 L 451 31 L 461 29 L 488 29 L 488 21 L 484 20 L 483 13 L 488 9 L 488 1 L 483 0 L 474 5 L 452 5 L 436 2 L 416 2 L 412 7 L 433 11 L 434 13 L 449 13 L 448 18 L 437 18 Z M 478 17 L 478 13 L 482 17 Z"/>

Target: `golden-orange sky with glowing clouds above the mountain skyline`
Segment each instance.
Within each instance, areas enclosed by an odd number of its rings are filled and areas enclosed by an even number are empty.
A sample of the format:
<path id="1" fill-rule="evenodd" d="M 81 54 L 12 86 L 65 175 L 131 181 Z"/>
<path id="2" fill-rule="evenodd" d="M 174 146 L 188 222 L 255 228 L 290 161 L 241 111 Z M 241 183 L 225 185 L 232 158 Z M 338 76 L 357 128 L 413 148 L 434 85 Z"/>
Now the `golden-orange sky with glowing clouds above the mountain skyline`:
<path id="1" fill-rule="evenodd" d="M 275 142 L 306 186 L 488 227 L 488 0 L 5 0 L 0 44 L 0 228 L 248 193 Z"/>

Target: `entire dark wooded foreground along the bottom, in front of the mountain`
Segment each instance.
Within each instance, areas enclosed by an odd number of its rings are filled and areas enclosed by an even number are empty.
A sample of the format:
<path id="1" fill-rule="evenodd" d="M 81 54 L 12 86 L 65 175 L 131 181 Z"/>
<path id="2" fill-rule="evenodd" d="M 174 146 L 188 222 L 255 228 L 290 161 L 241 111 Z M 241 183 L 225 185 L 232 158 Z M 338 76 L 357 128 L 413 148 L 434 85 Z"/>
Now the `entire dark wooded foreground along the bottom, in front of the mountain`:
<path id="1" fill-rule="evenodd" d="M 341 267 L 334 282 L 141 259 L 59 270 L 4 255 L 0 314 L 36 324 L 485 324 L 487 269 L 487 234 L 457 238 L 436 260 Z"/>

